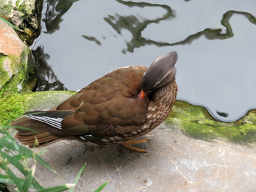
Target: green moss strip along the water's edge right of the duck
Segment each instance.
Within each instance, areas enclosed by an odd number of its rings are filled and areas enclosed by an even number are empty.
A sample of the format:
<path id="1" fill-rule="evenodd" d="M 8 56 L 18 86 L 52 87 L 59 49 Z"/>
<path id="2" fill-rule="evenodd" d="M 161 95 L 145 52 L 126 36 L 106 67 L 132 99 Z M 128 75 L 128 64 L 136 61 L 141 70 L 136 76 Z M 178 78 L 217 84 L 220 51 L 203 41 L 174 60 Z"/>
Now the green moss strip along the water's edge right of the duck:
<path id="1" fill-rule="evenodd" d="M 231 142 L 246 144 L 256 142 L 256 114 L 248 112 L 237 122 L 220 122 L 201 106 L 176 101 L 166 122 L 181 127 L 183 132 L 196 139 L 225 138 Z"/>

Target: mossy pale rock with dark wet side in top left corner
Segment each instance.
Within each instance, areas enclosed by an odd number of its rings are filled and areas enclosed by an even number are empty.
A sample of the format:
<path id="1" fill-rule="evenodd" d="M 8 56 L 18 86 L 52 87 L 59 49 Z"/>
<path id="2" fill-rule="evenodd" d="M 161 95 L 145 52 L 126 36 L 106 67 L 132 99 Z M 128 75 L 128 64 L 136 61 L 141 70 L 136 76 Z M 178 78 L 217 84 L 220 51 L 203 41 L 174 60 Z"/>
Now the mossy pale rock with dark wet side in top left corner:
<path id="1" fill-rule="evenodd" d="M 18 34 L 28 45 L 41 32 L 41 11 L 43 0 L 1 0 L 0 16 L 23 32 Z"/>

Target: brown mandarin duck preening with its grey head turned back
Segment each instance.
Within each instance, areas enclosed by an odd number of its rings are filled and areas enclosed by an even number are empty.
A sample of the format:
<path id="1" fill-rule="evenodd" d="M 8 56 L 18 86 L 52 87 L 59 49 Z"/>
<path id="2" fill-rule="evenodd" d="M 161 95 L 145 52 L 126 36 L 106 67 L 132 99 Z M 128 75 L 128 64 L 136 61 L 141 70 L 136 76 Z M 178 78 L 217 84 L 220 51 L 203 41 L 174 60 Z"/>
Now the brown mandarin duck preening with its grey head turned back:
<path id="1" fill-rule="evenodd" d="M 80 139 L 146 152 L 132 144 L 146 142 L 137 137 L 156 128 L 171 112 L 178 91 L 177 58 L 172 51 L 149 68 L 117 68 L 51 110 L 26 112 L 11 122 L 18 130 L 15 137 L 29 147 Z"/>

